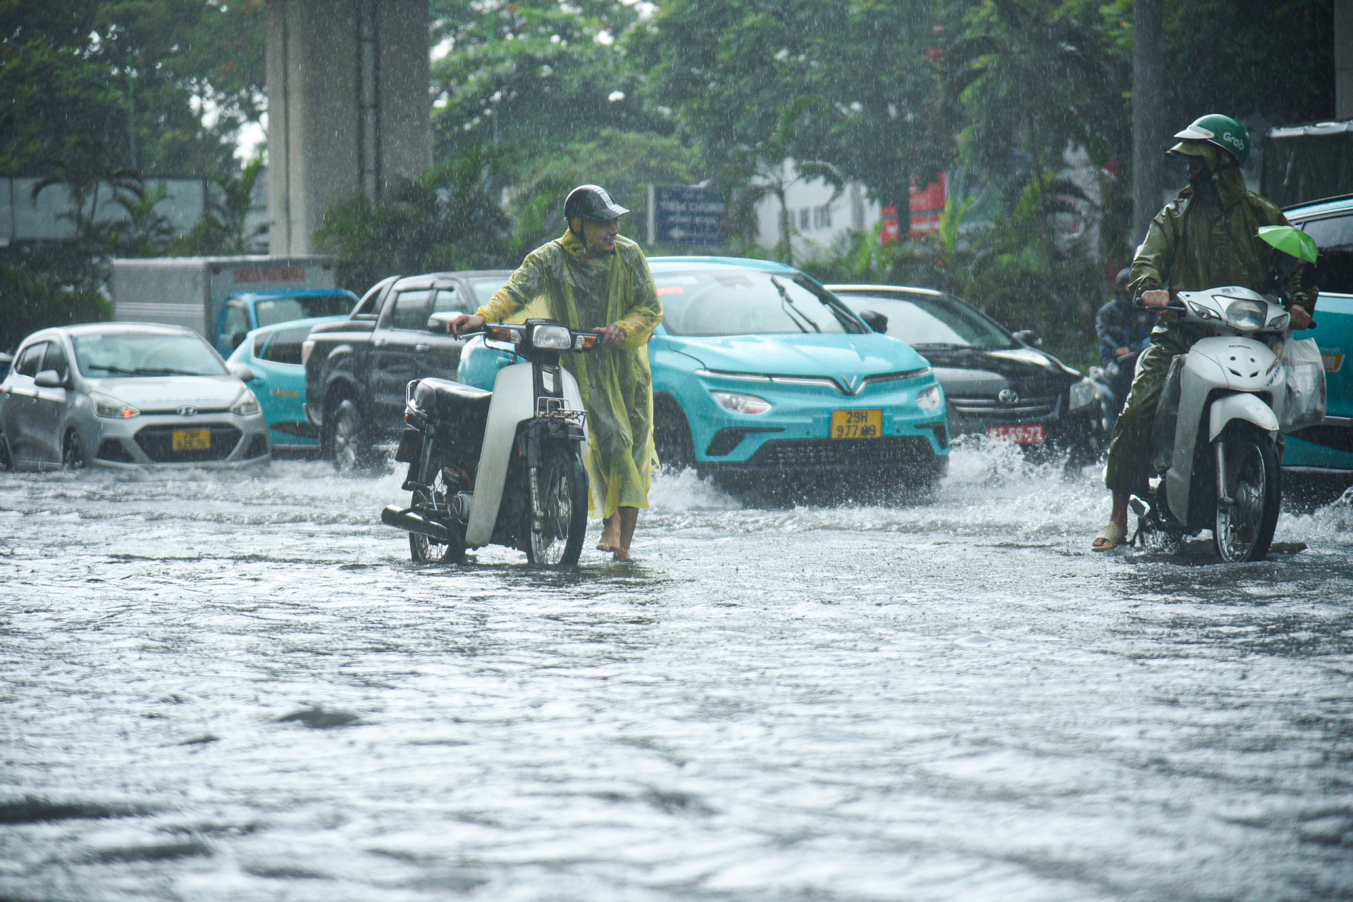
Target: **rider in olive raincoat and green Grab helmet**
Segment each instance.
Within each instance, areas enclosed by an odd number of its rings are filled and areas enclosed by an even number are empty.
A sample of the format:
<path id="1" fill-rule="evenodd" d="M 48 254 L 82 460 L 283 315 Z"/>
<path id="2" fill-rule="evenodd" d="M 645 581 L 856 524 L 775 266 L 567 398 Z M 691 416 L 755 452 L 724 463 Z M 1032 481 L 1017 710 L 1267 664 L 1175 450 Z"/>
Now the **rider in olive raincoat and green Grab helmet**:
<path id="1" fill-rule="evenodd" d="M 1189 187 L 1155 215 L 1137 249 L 1128 281 L 1132 300 L 1160 312 L 1170 292 L 1220 285 L 1268 289 L 1276 252 L 1258 238 L 1258 229 L 1291 223 L 1245 187 L 1241 166 L 1250 154 L 1249 133 L 1230 116 L 1212 114 L 1174 137 L 1180 142 L 1169 156 L 1188 162 Z M 1304 329 L 1315 308 L 1314 289 L 1302 287 L 1304 265 L 1296 265 L 1284 287 L 1293 330 Z M 1150 433 L 1170 361 L 1200 337 L 1173 312 L 1161 312 L 1151 330 L 1109 442 L 1104 484 L 1114 492 L 1114 507 L 1091 545 L 1097 552 L 1127 536 L 1127 502 L 1132 492 L 1145 491 L 1151 475 Z"/>

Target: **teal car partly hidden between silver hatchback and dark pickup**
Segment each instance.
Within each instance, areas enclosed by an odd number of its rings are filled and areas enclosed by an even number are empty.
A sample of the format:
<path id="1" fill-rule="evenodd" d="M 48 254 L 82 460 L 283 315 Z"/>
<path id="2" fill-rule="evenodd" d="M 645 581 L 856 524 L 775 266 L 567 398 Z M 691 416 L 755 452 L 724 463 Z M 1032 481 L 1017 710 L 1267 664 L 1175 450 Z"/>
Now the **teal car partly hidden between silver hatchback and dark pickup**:
<path id="1" fill-rule="evenodd" d="M 226 366 L 253 389 L 268 421 L 273 452 L 318 452 L 319 435 L 306 421 L 306 368 L 300 342 L 317 323 L 346 316 L 310 316 L 249 331 Z"/>

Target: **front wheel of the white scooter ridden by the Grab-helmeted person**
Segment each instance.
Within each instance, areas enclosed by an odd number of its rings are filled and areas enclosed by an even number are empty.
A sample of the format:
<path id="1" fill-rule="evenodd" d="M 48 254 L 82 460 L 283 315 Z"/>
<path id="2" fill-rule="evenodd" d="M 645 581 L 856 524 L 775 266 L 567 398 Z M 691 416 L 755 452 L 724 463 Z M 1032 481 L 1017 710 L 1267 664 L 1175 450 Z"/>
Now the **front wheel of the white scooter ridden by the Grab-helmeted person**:
<path id="1" fill-rule="evenodd" d="M 1281 506 L 1277 446 L 1249 423 L 1223 433 L 1226 490 L 1231 503 L 1216 502 L 1212 544 L 1223 561 L 1261 561 L 1268 556 Z"/>

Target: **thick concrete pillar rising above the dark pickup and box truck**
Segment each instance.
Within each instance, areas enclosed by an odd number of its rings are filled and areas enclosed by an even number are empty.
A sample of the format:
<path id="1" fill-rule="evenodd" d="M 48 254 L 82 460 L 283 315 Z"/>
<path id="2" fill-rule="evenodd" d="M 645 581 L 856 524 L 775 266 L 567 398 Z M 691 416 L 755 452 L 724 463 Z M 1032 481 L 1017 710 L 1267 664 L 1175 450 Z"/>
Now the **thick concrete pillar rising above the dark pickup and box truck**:
<path id="1" fill-rule="evenodd" d="M 268 220 L 315 253 L 325 211 L 432 165 L 428 0 L 268 0 Z"/>

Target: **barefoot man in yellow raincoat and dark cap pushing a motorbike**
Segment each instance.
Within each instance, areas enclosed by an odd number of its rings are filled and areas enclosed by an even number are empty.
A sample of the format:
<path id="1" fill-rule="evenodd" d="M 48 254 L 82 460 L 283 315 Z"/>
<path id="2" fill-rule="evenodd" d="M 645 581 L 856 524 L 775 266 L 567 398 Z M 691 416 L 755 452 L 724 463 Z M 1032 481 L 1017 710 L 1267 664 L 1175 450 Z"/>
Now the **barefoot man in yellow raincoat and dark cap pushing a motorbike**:
<path id="1" fill-rule="evenodd" d="M 561 362 L 587 410 L 589 506 L 603 518 L 597 549 L 622 561 L 658 469 L 648 337 L 663 321 L 644 252 L 620 235 L 626 212 L 603 188 L 574 188 L 564 200 L 568 231 L 530 252 L 487 304 L 448 323 L 460 334 L 525 312 L 602 337 L 595 354 L 564 354 Z"/>

